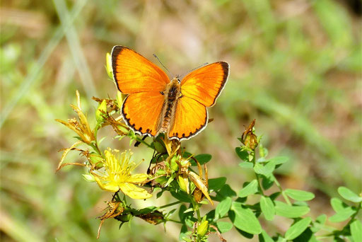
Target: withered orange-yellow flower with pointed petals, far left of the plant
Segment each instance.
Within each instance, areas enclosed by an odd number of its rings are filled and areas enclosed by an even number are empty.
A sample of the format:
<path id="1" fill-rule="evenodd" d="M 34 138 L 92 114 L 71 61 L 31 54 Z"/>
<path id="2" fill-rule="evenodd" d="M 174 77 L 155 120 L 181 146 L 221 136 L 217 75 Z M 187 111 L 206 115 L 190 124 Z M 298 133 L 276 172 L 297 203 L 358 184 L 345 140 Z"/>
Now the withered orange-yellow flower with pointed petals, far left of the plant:
<path id="1" fill-rule="evenodd" d="M 76 113 L 78 114 L 79 121 L 75 118 L 68 120 L 68 122 L 65 122 L 63 120 L 56 121 L 62 123 L 66 127 L 69 127 L 69 129 L 76 132 L 76 134 L 78 134 L 78 136 L 84 143 L 91 144 L 91 142 L 95 140 L 95 137 L 93 135 L 91 127 L 89 127 L 86 115 L 84 115 L 81 110 L 81 98 L 79 97 L 78 90 L 76 91 L 76 100 L 77 105 L 71 105 L 71 108 L 73 108 L 73 110 L 76 111 Z"/>

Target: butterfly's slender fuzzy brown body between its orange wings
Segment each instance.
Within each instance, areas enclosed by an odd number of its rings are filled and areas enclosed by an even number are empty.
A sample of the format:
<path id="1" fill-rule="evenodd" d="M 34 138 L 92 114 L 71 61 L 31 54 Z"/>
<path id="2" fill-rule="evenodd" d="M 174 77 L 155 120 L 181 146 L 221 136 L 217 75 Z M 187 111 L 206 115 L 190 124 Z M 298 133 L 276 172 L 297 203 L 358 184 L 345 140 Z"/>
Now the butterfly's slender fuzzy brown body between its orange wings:
<path id="1" fill-rule="evenodd" d="M 165 103 L 160 122 L 160 132 L 167 132 L 170 127 L 173 115 L 175 113 L 177 99 L 181 96 L 180 82 L 173 79 L 167 86 L 164 92 Z"/>

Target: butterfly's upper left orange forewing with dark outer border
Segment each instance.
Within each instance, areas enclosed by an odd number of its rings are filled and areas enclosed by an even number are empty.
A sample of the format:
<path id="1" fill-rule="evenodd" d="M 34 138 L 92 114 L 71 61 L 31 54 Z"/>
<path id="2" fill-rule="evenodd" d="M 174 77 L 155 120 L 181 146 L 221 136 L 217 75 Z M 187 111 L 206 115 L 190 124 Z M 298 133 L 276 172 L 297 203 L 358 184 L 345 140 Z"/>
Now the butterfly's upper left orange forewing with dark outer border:
<path id="1" fill-rule="evenodd" d="M 170 82 L 163 70 L 127 47 L 116 45 L 112 50 L 113 78 L 124 94 L 142 91 L 164 91 Z"/>

